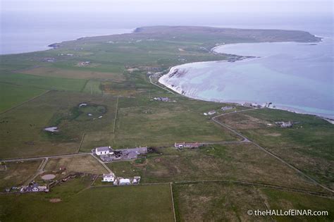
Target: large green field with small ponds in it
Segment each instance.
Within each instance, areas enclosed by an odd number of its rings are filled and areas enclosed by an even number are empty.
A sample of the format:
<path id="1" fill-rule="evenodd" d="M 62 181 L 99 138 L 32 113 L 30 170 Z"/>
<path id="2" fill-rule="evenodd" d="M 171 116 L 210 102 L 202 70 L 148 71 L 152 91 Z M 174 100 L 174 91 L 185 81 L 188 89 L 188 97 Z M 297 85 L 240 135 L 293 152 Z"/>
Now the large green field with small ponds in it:
<path id="1" fill-rule="evenodd" d="M 78 152 L 84 132 L 113 129 L 115 101 L 112 97 L 51 91 L 3 113 L 0 115 L 1 158 Z M 102 118 L 87 116 L 79 108 L 83 102 L 89 107 L 103 106 L 105 113 L 99 114 Z M 43 130 L 49 126 L 57 126 L 59 131 Z"/>

